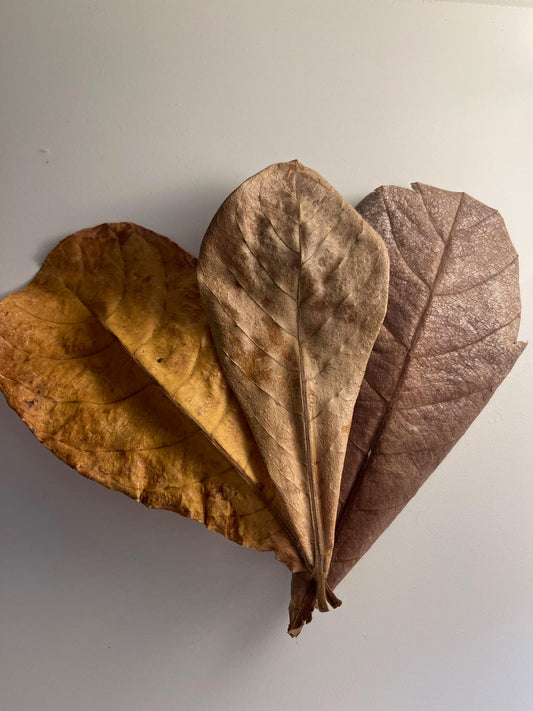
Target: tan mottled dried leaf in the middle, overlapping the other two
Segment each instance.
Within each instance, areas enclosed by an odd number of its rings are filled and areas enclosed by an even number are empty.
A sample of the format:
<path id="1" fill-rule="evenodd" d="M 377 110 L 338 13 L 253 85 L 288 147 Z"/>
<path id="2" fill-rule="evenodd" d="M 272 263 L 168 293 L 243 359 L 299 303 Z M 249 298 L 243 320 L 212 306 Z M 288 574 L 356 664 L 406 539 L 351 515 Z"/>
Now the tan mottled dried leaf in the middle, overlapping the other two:
<path id="1" fill-rule="evenodd" d="M 387 300 L 379 235 L 321 176 L 270 166 L 222 204 L 198 281 L 222 368 L 327 588 L 353 406 Z"/>

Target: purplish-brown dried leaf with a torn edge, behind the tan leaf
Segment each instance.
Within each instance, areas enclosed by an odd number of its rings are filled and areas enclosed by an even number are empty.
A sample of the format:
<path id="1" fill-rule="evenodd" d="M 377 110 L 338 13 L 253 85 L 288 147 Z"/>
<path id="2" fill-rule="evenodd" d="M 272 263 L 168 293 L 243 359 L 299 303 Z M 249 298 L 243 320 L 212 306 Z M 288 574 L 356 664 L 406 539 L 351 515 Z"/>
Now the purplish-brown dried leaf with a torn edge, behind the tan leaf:
<path id="1" fill-rule="evenodd" d="M 518 257 L 496 210 L 415 183 L 381 187 L 357 210 L 390 257 L 389 304 L 346 452 L 334 588 L 444 459 L 525 343 Z M 293 576 L 289 630 L 310 620 L 309 574 Z"/>

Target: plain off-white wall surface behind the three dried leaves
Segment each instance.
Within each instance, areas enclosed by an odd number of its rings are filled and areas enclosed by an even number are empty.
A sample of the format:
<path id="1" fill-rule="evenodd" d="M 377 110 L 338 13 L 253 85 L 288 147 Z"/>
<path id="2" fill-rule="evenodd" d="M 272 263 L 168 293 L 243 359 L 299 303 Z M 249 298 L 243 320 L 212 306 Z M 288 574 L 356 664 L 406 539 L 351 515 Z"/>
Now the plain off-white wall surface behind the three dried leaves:
<path id="1" fill-rule="evenodd" d="M 2 0 L 0 292 L 131 220 L 197 253 L 292 158 L 500 210 L 533 333 L 533 10 L 353 0 Z M 2 711 L 533 708 L 532 358 L 339 588 L 56 460 L 0 402 Z"/>

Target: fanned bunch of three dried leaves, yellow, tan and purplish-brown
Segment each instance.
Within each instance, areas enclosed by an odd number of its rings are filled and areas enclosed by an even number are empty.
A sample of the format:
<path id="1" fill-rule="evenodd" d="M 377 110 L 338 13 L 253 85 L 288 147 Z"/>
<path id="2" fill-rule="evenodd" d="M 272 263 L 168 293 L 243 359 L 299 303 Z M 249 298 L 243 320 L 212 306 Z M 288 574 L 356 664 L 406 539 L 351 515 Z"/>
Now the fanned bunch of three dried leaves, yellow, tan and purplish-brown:
<path id="1" fill-rule="evenodd" d="M 0 387 L 36 437 L 110 489 L 273 551 L 292 635 L 340 604 L 525 346 L 499 214 L 413 188 L 356 211 L 277 164 L 223 203 L 198 264 L 101 225 L 1 304 Z"/>

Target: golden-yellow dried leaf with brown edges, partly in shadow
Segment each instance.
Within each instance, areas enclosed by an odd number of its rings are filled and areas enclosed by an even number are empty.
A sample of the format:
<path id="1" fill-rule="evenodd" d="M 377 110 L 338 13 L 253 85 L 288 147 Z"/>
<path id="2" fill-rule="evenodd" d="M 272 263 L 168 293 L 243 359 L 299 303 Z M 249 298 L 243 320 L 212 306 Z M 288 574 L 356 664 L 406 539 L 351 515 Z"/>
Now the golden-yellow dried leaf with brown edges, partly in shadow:
<path id="1" fill-rule="evenodd" d="M 196 260 L 128 223 L 63 240 L 0 304 L 0 387 L 81 474 L 305 566 L 216 358 Z"/>

